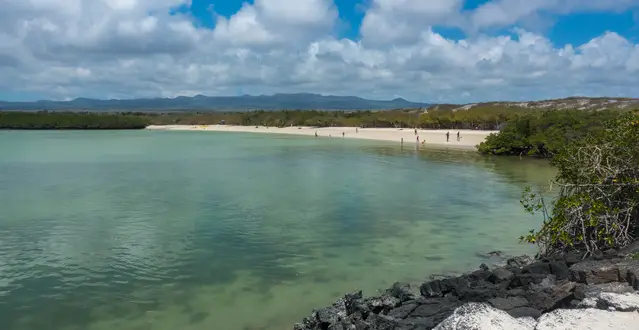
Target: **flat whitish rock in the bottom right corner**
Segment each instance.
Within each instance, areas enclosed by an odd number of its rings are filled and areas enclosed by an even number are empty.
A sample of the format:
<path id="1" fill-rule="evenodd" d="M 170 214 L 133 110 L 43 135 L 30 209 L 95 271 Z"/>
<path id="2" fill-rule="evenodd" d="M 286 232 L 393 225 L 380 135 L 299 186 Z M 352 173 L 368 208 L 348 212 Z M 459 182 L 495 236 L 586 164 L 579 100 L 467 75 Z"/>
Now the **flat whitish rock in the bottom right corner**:
<path id="1" fill-rule="evenodd" d="M 459 328 L 458 328 L 459 329 Z M 558 309 L 539 318 L 535 330 L 637 330 L 639 313 Z"/>

